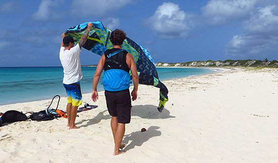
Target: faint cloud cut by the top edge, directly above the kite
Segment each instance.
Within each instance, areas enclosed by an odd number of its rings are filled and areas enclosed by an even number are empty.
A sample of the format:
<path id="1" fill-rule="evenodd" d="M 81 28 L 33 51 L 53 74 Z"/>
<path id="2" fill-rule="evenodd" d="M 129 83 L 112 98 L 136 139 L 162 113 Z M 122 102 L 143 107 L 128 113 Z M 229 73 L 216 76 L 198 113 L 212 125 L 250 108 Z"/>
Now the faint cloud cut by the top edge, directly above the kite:
<path id="1" fill-rule="evenodd" d="M 75 16 L 105 16 L 132 3 L 131 0 L 73 0 L 71 13 Z"/>

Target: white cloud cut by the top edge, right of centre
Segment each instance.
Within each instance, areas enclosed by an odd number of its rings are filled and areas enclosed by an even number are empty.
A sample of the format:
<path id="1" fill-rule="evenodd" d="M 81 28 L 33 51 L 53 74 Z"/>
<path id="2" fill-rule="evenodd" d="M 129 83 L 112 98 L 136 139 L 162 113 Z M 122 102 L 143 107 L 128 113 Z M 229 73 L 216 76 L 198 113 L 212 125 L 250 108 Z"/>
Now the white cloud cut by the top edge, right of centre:
<path id="1" fill-rule="evenodd" d="M 249 16 L 258 0 L 211 0 L 202 14 L 212 25 L 222 25 Z"/>

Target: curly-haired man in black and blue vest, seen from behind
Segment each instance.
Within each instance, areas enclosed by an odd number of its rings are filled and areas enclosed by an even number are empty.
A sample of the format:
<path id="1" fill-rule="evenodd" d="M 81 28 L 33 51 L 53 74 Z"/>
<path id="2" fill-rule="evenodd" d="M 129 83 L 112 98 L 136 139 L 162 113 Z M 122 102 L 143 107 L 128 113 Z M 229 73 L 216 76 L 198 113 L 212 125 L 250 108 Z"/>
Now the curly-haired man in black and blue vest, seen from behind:
<path id="1" fill-rule="evenodd" d="M 112 49 L 107 49 L 102 55 L 94 79 L 91 98 L 95 102 L 99 98 L 97 85 L 101 73 L 104 69 L 104 77 L 102 84 L 105 89 L 106 104 L 111 118 L 111 129 L 114 137 L 113 155 L 121 154 L 125 151 L 121 150 L 125 144 L 122 139 L 125 132 L 125 124 L 130 123 L 131 99 L 129 93 L 129 85 L 132 74 L 133 90 L 131 92 L 132 100 L 137 98 L 138 74 L 136 64 L 130 53 L 121 49 L 126 34 L 124 31 L 116 29 L 111 33 L 110 40 L 113 44 Z"/>

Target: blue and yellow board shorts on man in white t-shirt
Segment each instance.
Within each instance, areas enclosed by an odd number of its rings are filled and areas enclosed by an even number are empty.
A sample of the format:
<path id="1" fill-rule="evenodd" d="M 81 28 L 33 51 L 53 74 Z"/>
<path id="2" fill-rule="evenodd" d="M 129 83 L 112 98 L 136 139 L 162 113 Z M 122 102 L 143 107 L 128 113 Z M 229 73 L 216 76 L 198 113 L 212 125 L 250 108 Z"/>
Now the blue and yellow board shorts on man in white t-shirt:
<path id="1" fill-rule="evenodd" d="M 66 88 L 68 103 L 72 103 L 73 106 L 79 106 L 82 103 L 82 94 L 80 89 L 80 82 L 72 84 L 64 84 Z"/>

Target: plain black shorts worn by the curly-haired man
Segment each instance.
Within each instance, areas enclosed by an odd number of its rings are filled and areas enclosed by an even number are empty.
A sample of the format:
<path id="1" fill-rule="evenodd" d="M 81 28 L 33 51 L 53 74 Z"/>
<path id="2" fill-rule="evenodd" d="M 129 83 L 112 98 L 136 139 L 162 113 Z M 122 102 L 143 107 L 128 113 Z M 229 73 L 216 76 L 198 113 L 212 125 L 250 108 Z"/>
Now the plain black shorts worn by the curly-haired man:
<path id="1" fill-rule="evenodd" d="M 108 112 L 112 117 L 118 118 L 118 123 L 130 123 L 131 98 L 129 89 L 110 92 L 105 91 Z"/>

